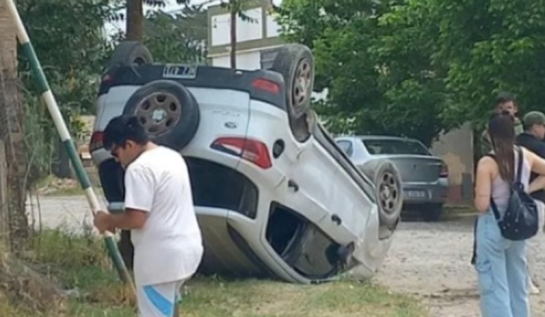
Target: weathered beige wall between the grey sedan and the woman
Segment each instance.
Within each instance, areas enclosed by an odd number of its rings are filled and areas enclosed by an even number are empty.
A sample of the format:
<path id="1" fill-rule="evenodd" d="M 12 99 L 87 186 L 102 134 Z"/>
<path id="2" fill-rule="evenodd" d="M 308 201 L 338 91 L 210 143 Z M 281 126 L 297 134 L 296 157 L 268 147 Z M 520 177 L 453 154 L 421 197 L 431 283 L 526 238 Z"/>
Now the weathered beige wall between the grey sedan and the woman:
<path id="1" fill-rule="evenodd" d="M 473 130 L 466 123 L 443 134 L 432 144 L 431 152 L 449 166 L 449 203 L 465 204 L 473 199 Z"/>

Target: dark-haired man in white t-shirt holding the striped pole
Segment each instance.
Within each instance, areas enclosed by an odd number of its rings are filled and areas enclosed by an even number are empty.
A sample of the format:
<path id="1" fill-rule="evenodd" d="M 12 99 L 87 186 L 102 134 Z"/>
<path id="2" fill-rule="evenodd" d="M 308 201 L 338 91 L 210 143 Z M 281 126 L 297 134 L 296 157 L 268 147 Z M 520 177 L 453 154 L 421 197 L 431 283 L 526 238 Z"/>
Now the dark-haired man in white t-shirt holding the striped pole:
<path id="1" fill-rule="evenodd" d="M 177 316 L 180 286 L 203 255 L 185 160 L 149 141 L 134 116 L 113 118 L 103 142 L 125 169 L 125 212 L 98 212 L 94 224 L 131 230 L 139 315 Z"/>

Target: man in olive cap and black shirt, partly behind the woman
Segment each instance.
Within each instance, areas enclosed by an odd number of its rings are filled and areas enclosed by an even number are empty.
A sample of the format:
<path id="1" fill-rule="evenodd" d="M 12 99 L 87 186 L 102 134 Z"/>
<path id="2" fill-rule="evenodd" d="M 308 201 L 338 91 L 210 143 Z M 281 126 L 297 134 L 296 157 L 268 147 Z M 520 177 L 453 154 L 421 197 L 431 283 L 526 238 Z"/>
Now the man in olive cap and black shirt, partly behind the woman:
<path id="1" fill-rule="evenodd" d="M 545 158 L 545 115 L 540 111 L 531 111 L 526 113 L 522 119 L 522 124 L 524 131 L 523 133 L 517 135 L 516 143 L 519 146 L 523 146 L 529 149 L 531 152 L 534 152 L 539 157 Z M 538 177 L 537 174 L 530 174 L 530 183 Z M 540 227 L 543 227 L 543 217 L 545 210 L 545 189 L 536 190 L 531 193 L 532 198 L 536 201 L 538 211 L 540 212 Z M 540 229 L 541 229 L 540 228 Z M 535 283 L 535 277 L 531 274 L 534 268 L 534 257 L 528 256 L 529 264 L 529 287 L 532 294 L 538 294 L 540 290 L 538 289 Z"/>

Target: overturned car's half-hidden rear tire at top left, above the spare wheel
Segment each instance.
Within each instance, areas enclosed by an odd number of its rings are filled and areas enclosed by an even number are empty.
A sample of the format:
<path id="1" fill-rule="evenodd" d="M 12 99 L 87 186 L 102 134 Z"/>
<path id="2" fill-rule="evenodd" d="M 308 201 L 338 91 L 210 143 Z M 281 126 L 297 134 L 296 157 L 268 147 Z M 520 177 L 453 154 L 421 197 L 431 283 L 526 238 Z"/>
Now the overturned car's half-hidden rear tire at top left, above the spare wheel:
<path id="1" fill-rule="evenodd" d="M 107 68 L 116 66 L 140 66 L 153 63 L 152 53 L 139 41 L 123 41 L 113 50 Z"/>

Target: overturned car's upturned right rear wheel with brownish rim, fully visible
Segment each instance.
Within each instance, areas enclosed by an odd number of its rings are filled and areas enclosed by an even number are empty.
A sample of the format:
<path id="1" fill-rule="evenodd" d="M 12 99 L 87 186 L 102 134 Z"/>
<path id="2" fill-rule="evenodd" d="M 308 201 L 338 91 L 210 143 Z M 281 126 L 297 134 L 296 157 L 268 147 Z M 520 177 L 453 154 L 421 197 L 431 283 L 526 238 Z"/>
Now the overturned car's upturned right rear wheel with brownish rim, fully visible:
<path id="1" fill-rule="evenodd" d="M 286 85 L 286 106 L 290 121 L 300 119 L 308 110 L 314 87 L 314 57 L 307 46 L 287 44 L 272 62 L 272 71 L 282 74 Z"/>

